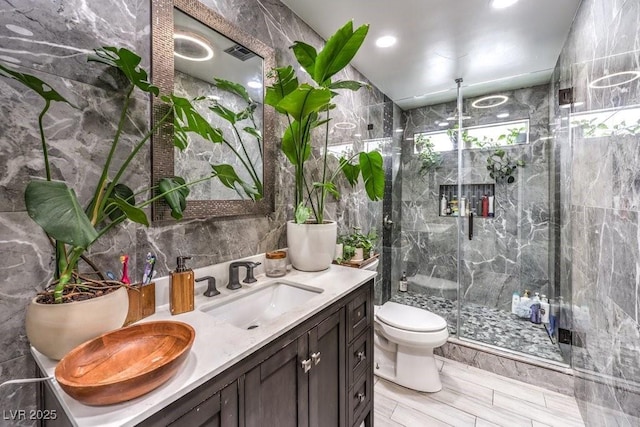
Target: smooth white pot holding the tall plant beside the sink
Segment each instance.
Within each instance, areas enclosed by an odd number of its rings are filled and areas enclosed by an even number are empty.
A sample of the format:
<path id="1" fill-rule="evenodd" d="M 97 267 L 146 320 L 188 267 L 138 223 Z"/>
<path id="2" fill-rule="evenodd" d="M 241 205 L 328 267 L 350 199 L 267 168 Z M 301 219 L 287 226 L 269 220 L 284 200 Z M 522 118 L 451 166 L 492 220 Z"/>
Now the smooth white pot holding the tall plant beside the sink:
<path id="1" fill-rule="evenodd" d="M 333 261 L 338 227 L 335 221 L 324 224 L 287 222 L 287 246 L 291 265 L 296 270 L 326 270 Z"/>

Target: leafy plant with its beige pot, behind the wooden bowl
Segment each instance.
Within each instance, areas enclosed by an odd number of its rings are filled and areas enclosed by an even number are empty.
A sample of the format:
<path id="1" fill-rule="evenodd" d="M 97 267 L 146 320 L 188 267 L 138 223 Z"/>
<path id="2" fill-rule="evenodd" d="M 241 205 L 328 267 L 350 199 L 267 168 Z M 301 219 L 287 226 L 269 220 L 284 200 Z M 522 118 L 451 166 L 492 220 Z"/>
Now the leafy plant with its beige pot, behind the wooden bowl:
<path id="1" fill-rule="evenodd" d="M 208 175 L 193 182 L 185 182 L 180 177 L 165 178 L 156 187 L 134 192 L 122 182 L 132 160 L 149 142 L 151 135 L 172 117 L 175 121 L 174 144 L 177 147 L 186 145 L 188 132 L 205 137 L 219 132 L 204 121 L 189 100 L 169 94 L 162 96 L 168 108 L 158 123 L 133 144 L 130 152 L 118 150 L 123 129 L 129 120 L 127 114 L 135 89 L 152 96 L 159 96 L 159 90 L 149 83 L 147 72 L 140 68 L 141 58 L 127 49 L 96 49 L 95 55 L 89 60 L 118 70 L 124 76 L 127 88 L 100 178 L 92 197 L 83 202 L 66 182 L 54 179 L 44 132 L 44 118 L 53 102 L 73 105 L 37 77 L 0 64 L 1 76 L 32 89 L 45 103 L 38 119 L 45 178 L 32 179 L 27 184 L 25 204 L 29 216 L 42 228 L 53 245 L 55 272 L 50 285 L 27 307 L 26 327 L 31 344 L 53 359 L 60 359 L 88 339 L 119 328 L 127 315 L 126 289 L 119 282 L 105 280 L 85 252 L 125 220 L 148 226 L 144 208 L 156 200 L 165 200 L 171 208 L 171 215 L 180 219 L 186 206 L 188 187 L 213 176 Z M 119 165 L 116 164 L 116 152 L 124 158 Z M 148 197 L 142 197 L 145 195 Z M 81 259 L 96 270 L 95 276 L 93 273 L 80 272 L 78 263 Z M 106 306 L 103 307 L 103 304 Z"/>

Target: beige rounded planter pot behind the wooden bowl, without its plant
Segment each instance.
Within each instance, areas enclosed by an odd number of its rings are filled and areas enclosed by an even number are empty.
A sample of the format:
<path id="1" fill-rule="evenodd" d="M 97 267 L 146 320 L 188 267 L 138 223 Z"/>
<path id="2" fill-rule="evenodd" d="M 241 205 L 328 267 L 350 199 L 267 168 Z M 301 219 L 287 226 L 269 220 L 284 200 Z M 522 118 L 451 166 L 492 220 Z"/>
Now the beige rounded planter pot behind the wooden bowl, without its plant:
<path id="1" fill-rule="evenodd" d="M 27 306 L 27 338 L 45 356 L 60 360 L 73 348 L 122 327 L 129 311 L 127 289 L 68 304 Z"/>

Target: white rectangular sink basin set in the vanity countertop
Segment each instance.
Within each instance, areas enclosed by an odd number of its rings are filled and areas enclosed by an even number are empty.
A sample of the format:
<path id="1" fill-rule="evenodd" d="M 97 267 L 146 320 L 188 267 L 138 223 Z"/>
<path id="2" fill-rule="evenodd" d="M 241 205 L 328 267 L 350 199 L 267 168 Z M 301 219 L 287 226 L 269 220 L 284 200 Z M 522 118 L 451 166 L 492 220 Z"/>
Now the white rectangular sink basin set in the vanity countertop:
<path id="1" fill-rule="evenodd" d="M 221 304 L 202 307 L 200 311 L 237 328 L 255 329 L 298 308 L 322 291 L 321 288 L 276 280 L 230 297 Z"/>

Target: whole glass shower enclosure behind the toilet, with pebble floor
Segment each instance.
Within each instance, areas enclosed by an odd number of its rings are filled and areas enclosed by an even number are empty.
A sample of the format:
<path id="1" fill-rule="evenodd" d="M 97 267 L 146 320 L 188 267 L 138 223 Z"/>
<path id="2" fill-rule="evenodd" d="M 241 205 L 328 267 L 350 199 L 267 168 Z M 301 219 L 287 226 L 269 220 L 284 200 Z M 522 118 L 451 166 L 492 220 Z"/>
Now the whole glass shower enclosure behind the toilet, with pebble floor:
<path id="1" fill-rule="evenodd" d="M 566 365 L 550 86 L 460 86 L 455 101 L 402 114 L 391 299 L 445 317 L 454 339 Z"/>

